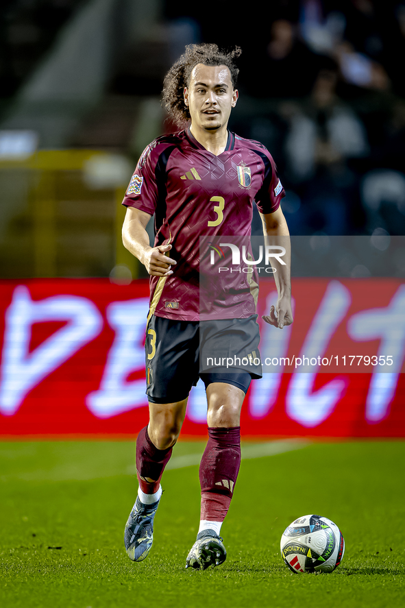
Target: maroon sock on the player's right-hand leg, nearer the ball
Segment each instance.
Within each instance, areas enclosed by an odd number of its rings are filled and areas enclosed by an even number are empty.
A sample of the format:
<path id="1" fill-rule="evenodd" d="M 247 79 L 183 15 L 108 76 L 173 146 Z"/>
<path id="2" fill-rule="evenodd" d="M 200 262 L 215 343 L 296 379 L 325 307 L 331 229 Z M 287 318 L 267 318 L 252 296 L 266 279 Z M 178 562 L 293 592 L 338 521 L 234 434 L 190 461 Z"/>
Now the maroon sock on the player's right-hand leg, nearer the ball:
<path id="1" fill-rule="evenodd" d="M 241 427 L 208 427 L 208 443 L 199 465 L 201 520 L 223 522 L 241 465 Z"/>

